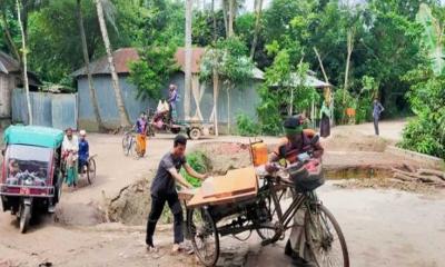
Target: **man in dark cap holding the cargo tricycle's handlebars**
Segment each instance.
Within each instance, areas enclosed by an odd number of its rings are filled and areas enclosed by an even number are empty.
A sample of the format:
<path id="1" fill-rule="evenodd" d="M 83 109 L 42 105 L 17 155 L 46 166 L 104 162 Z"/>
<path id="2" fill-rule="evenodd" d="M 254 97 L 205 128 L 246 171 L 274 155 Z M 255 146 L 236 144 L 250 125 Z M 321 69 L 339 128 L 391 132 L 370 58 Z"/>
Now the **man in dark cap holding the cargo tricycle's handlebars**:
<path id="1" fill-rule="evenodd" d="M 315 131 L 305 128 L 305 118 L 303 116 L 289 117 L 284 122 L 286 137 L 278 145 L 277 149 L 271 155 L 270 161 L 286 160 L 289 164 L 304 161 L 310 158 L 307 154 L 313 149 L 313 158 L 320 159 L 324 148 L 319 142 L 312 145 L 312 139 L 315 137 Z M 266 170 L 273 172 L 273 165 L 267 165 Z M 304 218 L 306 210 L 299 209 L 294 217 L 294 226 L 290 237 L 286 244 L 286 255 L 293 257 L 296 266 L 313 266 L 312 258 L 306 248 L 306 239 L 304 231 Z"/>

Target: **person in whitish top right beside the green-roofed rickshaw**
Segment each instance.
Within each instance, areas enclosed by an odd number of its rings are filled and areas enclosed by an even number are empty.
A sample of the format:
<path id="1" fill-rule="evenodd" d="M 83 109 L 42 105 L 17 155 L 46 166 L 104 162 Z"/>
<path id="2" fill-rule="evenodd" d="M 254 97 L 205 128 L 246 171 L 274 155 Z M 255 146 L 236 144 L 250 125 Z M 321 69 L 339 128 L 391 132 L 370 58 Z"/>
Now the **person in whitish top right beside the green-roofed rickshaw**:
<path id="1" fill-rule="evenodd" d="M 78 151 L 79 151 L 79 139 L 72 134 L 72 129 L 68 128 L 63 137 L 62 142 L 62 157 L 67 164 L 67 185 L 69 187 L 77 186 L 78 176 Z"/>

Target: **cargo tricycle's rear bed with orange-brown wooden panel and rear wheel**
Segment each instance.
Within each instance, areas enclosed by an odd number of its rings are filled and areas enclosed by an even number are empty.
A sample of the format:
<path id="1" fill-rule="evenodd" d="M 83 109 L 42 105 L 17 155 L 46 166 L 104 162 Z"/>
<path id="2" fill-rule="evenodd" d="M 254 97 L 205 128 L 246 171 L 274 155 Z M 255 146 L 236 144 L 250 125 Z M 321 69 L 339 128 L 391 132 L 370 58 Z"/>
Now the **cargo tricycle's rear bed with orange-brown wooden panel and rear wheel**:
<path id="1" fill-rule="evenodd" d="M 187 234 L 205 266 L 218 260 L 220 236 L 251 231 L 268 220 L 254 167 L 211 177 L 198 189 L 179 192 L 179 197 L 186 200 Z M 228 219 L 234 216 L 237 218 Z"/>

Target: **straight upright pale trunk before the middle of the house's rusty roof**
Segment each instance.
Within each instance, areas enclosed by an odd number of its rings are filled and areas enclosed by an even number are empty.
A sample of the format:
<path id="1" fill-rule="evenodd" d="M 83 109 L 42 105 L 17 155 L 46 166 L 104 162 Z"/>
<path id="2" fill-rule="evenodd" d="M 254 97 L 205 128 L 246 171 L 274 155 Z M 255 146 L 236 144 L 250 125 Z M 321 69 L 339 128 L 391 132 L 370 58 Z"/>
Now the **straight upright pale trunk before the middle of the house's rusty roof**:
<path id="1" fill-rule="evenodd" d="M 192 0 L 186 0 L 186 40 L 185 40 L 185 89 L 184 89 L 184 116 L 190 118 L 190 92 L 191 92 L 191 16 Z"/>

